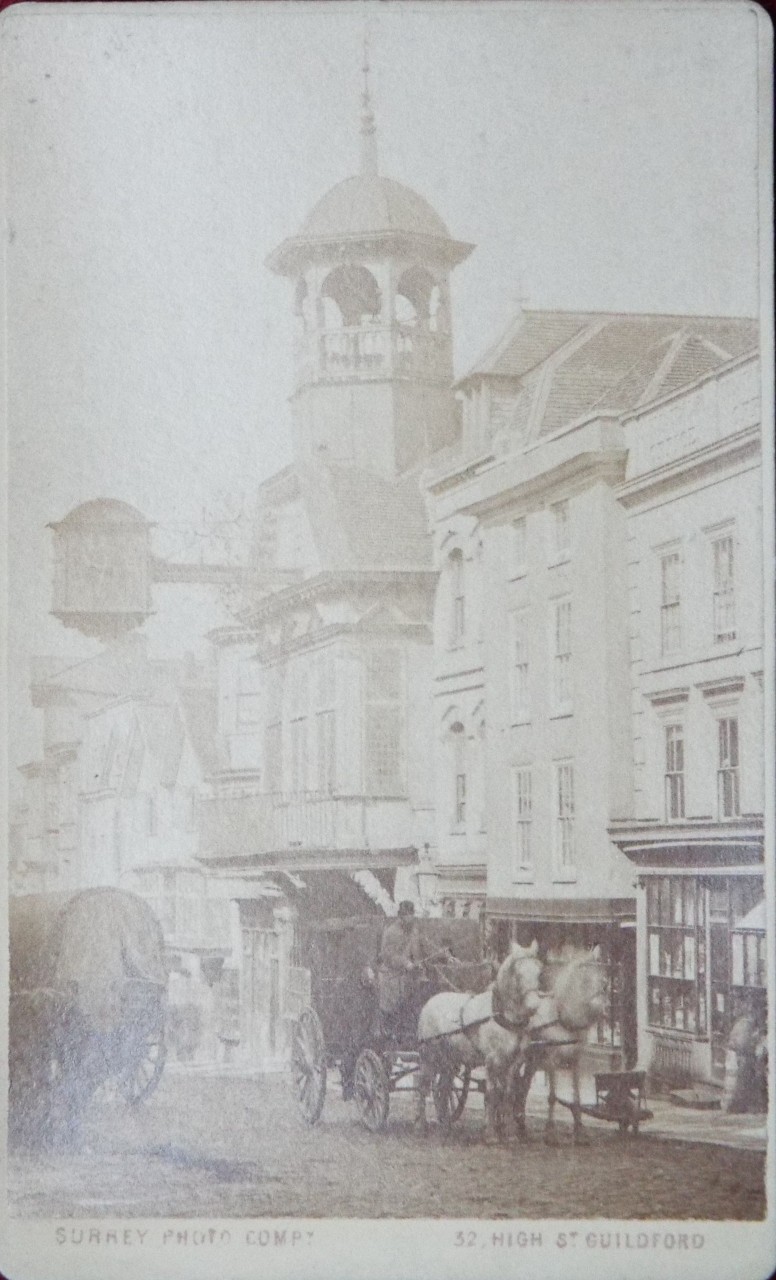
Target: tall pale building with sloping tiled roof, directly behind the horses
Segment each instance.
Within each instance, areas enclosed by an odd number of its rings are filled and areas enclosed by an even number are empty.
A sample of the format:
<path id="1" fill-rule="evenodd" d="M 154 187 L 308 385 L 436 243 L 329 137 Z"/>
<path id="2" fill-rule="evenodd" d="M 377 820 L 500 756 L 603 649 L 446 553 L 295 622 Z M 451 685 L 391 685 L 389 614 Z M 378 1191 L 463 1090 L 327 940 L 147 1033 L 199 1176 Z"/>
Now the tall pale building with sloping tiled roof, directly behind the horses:
<path id="1" fill-rule="evenodd" d="M 636 874 L 610 835 L 642 783 L 626 419 L 754 340 L 749 321 L 526 312 L 458 384 L 461 452 L 428 477 L 439 892 L 478 876 L 497 954 L 511 938 L 537 937 L 544 952 L 601 946 L 610 1000 L 597 1039 L 627 1065 Z"/>

